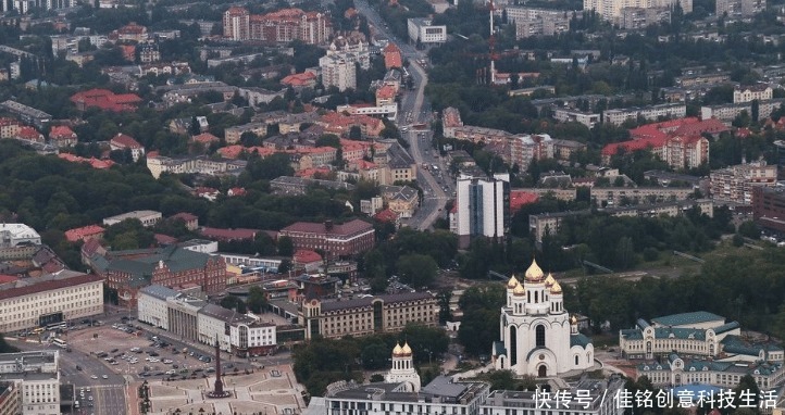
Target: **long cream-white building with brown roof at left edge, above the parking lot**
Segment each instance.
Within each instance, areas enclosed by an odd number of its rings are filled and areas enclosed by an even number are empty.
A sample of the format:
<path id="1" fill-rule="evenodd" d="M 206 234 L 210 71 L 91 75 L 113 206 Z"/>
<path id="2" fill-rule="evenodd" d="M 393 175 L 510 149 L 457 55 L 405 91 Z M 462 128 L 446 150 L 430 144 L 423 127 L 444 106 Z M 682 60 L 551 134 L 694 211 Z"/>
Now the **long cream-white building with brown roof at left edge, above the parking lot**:
<path id="1" fill-rule="evenodd" d="M 0 290 L 0 331 L 29 330 L 103 313 L 103 278 L 61 271 Z"/>

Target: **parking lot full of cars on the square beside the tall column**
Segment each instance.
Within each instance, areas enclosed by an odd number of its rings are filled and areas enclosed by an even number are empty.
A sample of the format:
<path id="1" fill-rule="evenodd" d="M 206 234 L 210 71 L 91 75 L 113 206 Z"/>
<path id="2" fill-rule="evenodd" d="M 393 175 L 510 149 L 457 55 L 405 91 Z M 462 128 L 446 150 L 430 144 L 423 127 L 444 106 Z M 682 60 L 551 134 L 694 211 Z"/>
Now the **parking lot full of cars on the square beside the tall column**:
<path id="1" fill-rule="evenodd" d="M 204 377 L 214 372 L 212 356 L 200 350 L 174 347 L 137 327 L 144 328 L 136 322 L 88 327 L 71 331 L 66 341 L 74 351 L 100 360 L 119 375 L 175 380 Z M 224 364 L 226 369 L 233 367 L 232 362 Z M 91 378 L 99 377 L 92 375 Z"/>

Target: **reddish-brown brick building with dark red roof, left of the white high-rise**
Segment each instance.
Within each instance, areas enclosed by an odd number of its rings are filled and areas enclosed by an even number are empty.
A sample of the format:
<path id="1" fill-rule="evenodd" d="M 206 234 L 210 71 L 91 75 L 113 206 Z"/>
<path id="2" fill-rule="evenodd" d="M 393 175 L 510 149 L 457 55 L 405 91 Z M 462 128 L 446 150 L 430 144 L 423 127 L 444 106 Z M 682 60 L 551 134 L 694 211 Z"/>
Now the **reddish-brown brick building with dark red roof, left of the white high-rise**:
<path id="1" fill-rule="evenodd" d="M 375 230 L 367 222 L 354 219 L 342 225 L 298 222 L 281 229 L 291 238 L 295 249 L 322 250 L 328 259 L 352 256 L 374 247 Z"/>

